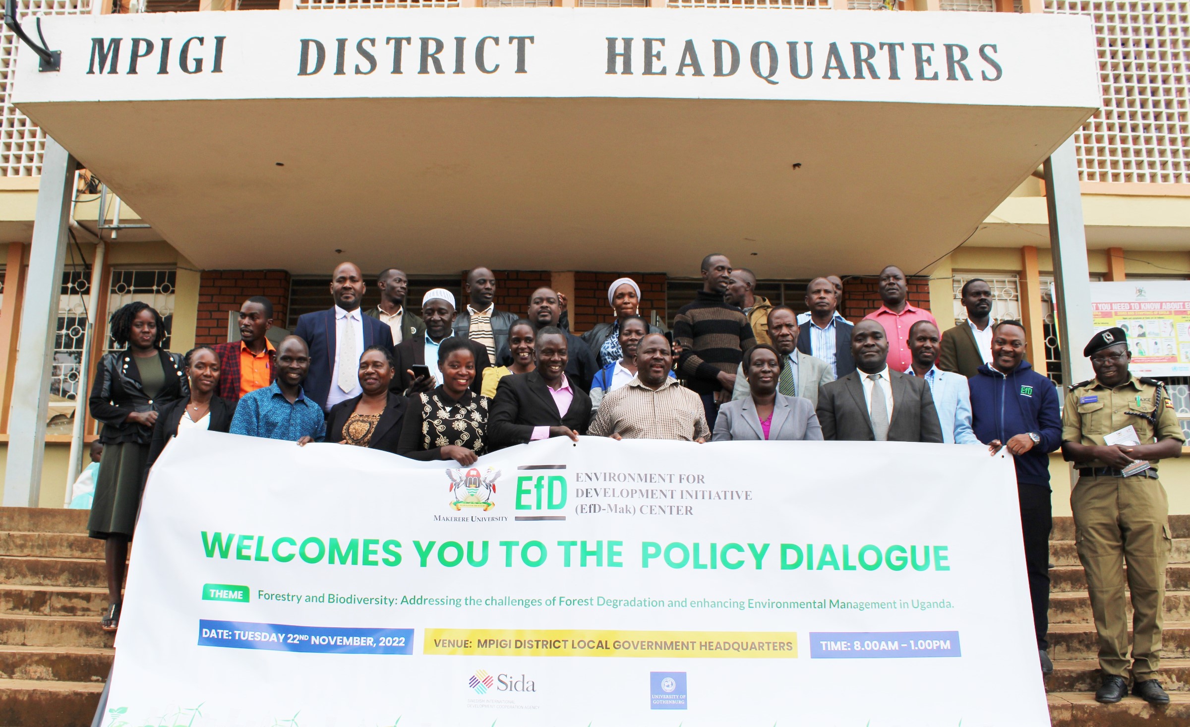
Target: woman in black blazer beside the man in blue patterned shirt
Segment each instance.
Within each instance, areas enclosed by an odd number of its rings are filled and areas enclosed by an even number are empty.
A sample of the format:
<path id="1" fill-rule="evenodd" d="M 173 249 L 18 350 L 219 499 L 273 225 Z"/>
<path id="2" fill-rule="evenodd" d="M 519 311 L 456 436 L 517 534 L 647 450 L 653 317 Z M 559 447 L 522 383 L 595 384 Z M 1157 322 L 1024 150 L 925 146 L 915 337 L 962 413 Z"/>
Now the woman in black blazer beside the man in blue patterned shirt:
<path id="1" fill-rule="evenodd" d="M 359 357 L 363 394 L 340 401 L 326 415 L 326 440 L 396 453 L 406 400 L 388 390 L 396 374 L 393 355 L 369 346 Z"/>

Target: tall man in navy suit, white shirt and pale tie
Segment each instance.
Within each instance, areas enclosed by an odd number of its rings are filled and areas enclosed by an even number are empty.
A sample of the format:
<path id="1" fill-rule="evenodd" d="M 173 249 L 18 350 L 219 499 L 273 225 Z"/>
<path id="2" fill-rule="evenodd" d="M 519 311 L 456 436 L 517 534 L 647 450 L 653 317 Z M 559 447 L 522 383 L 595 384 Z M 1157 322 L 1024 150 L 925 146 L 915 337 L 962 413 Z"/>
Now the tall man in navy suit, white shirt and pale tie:
<path id="1" fill-rule="evenodd" d="M 359 355 L 371 345 L 393 351 L 393 332 L 380 320 L 364 315 L 359 302 L 364 297 L 364 274 L 355 263 L 340 263 L 331 276 L 328 311 L 306 313 L 298 319 L 294 336 L 309 346 L 309 374 L 306 395 L 330 410 L 331 407 L 359 396 Z"/>

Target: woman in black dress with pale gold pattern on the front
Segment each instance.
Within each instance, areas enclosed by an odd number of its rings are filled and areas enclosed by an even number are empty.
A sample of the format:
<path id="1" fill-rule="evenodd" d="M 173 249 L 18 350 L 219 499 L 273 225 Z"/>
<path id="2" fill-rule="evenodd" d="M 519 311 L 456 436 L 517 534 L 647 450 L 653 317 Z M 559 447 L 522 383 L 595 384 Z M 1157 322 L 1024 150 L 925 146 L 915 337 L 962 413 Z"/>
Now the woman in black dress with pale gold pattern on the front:
<path id="1" fill-rule="evenodd" d="M 488 397 L 471 391 L 475 355 L 466 339 L 451 337 L 438 346 L 443 383 L 409 397 L 396 453 L 411 459 L 453 459 L 474 464 L 487 452 Z"/>

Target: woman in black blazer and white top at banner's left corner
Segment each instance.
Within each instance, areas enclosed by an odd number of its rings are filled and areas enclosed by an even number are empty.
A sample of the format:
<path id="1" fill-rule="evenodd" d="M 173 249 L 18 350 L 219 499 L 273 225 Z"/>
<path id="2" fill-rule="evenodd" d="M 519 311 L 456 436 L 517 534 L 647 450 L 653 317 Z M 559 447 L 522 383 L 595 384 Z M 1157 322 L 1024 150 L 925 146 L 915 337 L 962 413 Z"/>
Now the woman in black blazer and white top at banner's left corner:
<path id="1" fill-rule="evenodd" d="M 219 355 L 211 346 L 194 346 L 186 353 L 186 377 L 190 383 L 190 396 L 178 399 L 162 407 L 157 424 L 152 427 L 149 458 L 145 462 L 145 480 L 149 469 L 157 462 L 169 440 L 183 428 L 226 432 L 236 405 L 215 396 L 219 390 Z M 144 487 L 142 484 L 142 487 Z"/>

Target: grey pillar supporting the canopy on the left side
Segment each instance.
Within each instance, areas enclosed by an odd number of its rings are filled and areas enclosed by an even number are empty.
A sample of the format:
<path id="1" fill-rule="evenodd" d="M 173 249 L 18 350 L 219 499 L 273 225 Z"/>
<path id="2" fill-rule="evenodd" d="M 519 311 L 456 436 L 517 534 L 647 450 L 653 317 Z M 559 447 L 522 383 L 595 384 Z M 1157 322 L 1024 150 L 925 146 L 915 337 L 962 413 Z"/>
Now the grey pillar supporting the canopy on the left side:
<path id="1" fill-rule="evenodd" d="M 33 243 L 20 314 L 17 368 L 8 413 L 8 463 L 4 504 L 37 507 L 45 455 L 54 332 L 67 250 L 67 219 L 74 196 L 75 159 L 52 138 L 45 139 L 42 186 L 37 193 Z M 80 391 L 80 396 L 86 396 Z"/>

